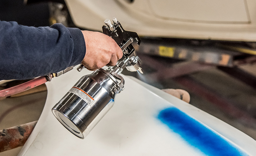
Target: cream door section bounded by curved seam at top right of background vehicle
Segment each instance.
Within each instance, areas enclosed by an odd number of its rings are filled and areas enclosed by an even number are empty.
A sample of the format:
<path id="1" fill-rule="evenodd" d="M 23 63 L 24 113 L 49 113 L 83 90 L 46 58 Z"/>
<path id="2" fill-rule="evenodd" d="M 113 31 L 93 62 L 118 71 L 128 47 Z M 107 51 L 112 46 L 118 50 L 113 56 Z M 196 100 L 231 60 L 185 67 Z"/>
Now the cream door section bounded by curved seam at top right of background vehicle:
<path id="1" fill-rule="evenodd" d="M 243 0 L 149 0 L 158 18 L 194 22 L 247 22 Z"/>

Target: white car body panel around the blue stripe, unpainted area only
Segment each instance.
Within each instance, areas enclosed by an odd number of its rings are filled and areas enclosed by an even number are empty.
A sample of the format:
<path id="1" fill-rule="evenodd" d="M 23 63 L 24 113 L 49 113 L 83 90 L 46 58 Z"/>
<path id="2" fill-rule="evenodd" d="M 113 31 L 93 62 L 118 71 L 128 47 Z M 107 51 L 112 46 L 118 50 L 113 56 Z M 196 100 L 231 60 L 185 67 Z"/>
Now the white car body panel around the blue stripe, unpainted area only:
<path id="1" fill-rule="evenodd" d="M 48 96 L 44 110 L 19 156 L 204 155 L 157 119 L 159 111 L 174 105 L 191 116 L 195 115 L 197 120 L 209 123 L 212 129 L 227 136 L 226 139 L 247 153 L 256 155 L 256 141 L 241 131 L 178 98 L 144 84 L 149 90 L 126 76 L 123 76 L 126 88 L 116 96 L 113 108 L 85 139 L 79 139 L 57 121 L 51 108 L 80 77 L 89 73 L 85 69 L 82 72 L 72 70 L 46 83 Z M 159 96 L 161 93 L 164 98 Z"/>

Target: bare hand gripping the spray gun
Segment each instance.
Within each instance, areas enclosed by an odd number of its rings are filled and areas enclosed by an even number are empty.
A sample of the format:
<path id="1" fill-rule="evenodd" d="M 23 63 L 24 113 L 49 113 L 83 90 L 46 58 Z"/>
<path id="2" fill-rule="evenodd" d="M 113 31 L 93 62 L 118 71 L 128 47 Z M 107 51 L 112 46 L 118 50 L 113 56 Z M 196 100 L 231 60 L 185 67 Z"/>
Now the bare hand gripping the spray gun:
<path id="1" fill-rule="evenodd" d="M 116 65 L 123 52 L 111 37 L 94 31 L 82 31 L 86 54 L 81 62 L 88 70 L 94 71 L 105 65 Z"/>

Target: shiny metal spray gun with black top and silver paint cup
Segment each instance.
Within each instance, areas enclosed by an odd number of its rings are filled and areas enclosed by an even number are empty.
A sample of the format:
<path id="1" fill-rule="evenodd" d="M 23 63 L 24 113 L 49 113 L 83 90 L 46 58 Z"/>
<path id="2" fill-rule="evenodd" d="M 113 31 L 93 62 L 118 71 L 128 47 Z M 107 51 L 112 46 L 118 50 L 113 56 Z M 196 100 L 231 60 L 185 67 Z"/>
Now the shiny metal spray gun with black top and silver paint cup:
<path id="1" fill-rule="evenodd" d="M 140 45 L 136 32 L 125 31 L 113 18 L 104 21 L 103 33 L 112 37 L 123 51 L 123 58 L 113 67 L 98 69 L 83 76 L 68 93 L 52 108 L 52 113 L 71 133 L 83 139 L 114 105 L 115 95 L 124 90 L 124 79 L 119 75 L 124 68 L 139 71 L 141 60 L 133 44 Z M 84 68 L 80 65 L 77 70 Z"/>

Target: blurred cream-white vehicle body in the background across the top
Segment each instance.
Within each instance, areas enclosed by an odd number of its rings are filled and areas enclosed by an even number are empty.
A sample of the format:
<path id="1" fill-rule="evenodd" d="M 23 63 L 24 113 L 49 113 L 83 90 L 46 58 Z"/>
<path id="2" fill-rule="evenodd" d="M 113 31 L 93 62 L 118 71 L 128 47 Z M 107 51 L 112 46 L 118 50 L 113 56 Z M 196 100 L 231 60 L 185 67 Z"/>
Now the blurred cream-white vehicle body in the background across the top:
<path id="1" fill-rule="evenodd" d="M 256 41 L 255 0 L 65 0 L 76 26 L 116 17 L 140 36 Z"/>

